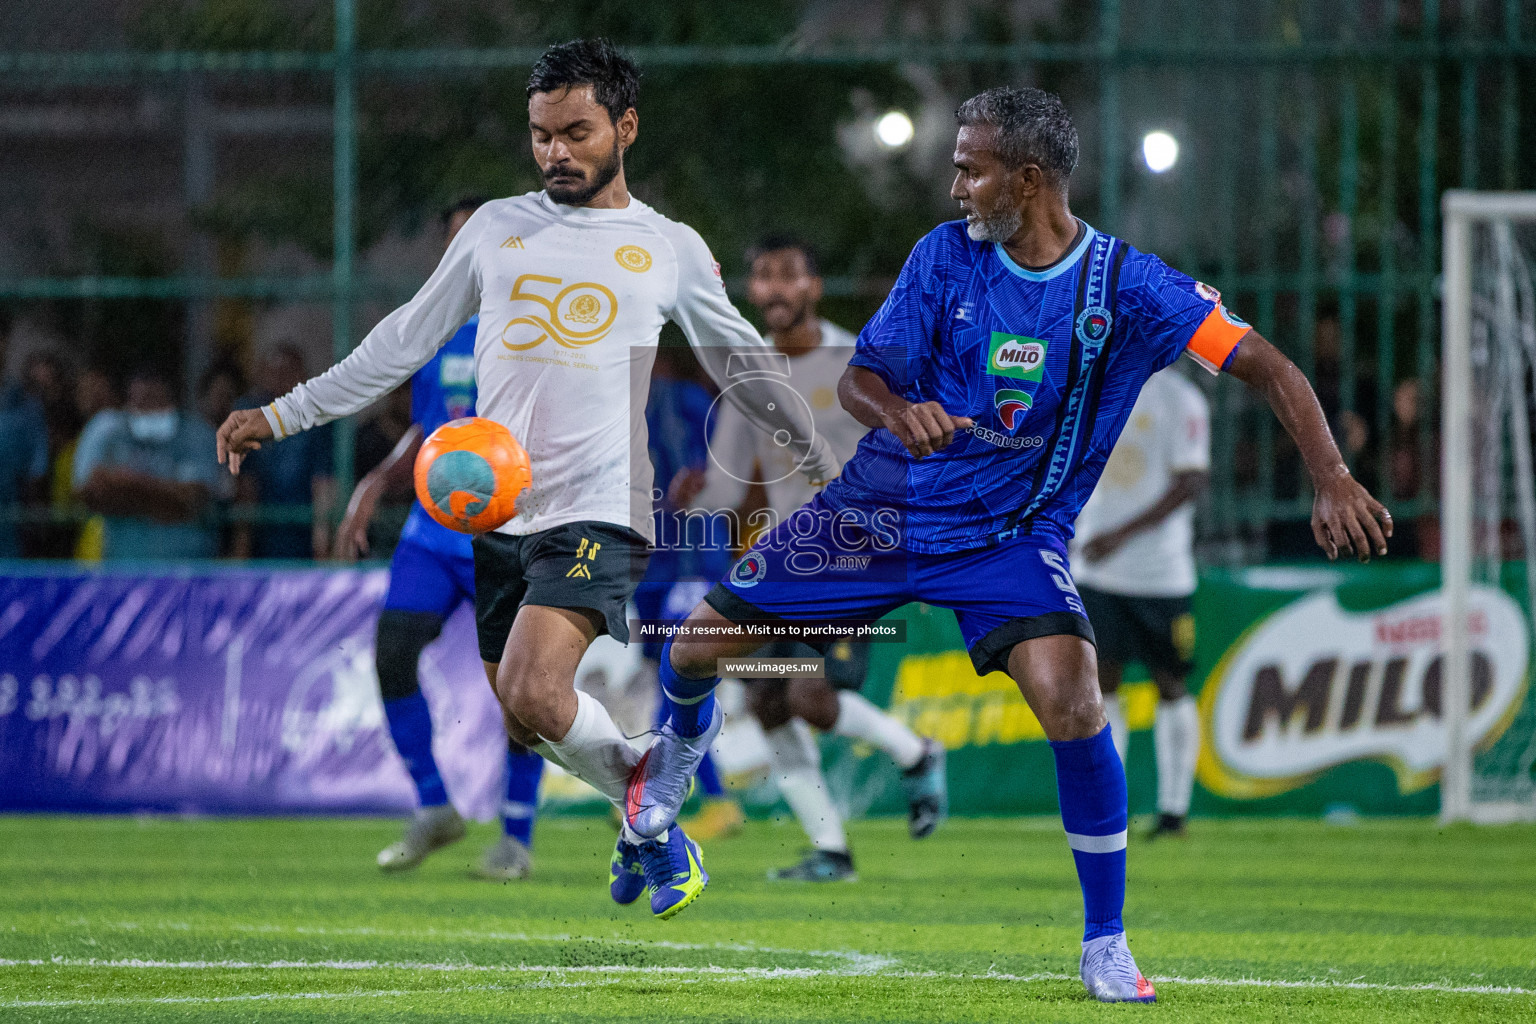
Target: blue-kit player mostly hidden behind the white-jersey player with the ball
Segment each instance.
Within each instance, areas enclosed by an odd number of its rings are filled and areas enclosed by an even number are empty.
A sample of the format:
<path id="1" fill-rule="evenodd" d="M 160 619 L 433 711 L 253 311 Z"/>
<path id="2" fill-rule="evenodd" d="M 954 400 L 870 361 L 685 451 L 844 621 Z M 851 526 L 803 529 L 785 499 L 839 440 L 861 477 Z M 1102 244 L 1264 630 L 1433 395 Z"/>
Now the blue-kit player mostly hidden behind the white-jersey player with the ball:
<path id="1" fill-rule="evenodd" d="M 479 209 L 478 200 L 461 200 L 444 212 L 447 241 Z M 475 415 L 475 329 L 470 318 L 410 379 L 412 427 L 395 450 L 364 476 L 347 505 L 338 531 L 338 554 L 346 559 L 369 550 L 369 524 L 379 497 L 412 487 L 412 473 L 422 439 L 449 422 Z M 470 536 L 439 525 L 421 502 L 412 502 L 410 517 L 390 559 L 389 594 L 379 613 L 375 660 L 384 717 L 395 749 L 416 785 L 419 806 L 398 843 L 378 855 L 384 870 L 406 870 L 427 854 L 464 838 L 464 818 L 449 803 L 442 775 L 432 755 L 432 712 L 416 676 L 421 652 L 438 639 L 442 623 L 459 603 L 475 602 L 475 554 Z M 484 878 L 524 878 L 531 867 L 533 814 L 539 798 L 544 758 L 507 743 L 507 791 L 501 806 L 502 837 L 485 851 Z"/>

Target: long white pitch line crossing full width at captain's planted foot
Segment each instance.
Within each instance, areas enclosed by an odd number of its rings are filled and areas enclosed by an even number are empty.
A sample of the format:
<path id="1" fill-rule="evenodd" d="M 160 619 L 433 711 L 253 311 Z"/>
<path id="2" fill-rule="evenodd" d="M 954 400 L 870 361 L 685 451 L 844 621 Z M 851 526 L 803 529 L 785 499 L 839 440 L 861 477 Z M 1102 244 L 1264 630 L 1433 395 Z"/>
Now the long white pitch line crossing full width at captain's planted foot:
<path id="1" fill-rule="evenodd" d="M 931 978 L 943 981 L 1074 981 L 1075 975 L 1032 973 L 1011 975 L 1000 972 L 957 973 L 940 970 L 883 970 L 874 975 L 839 970 L 836 967 L 719 967 L 719 966 L 633 966 L 633 964 L 470 964 L 470 963 L 392 963 L 376 960 L 98 960 L 52 956 L 48 960 L 0 960 L 0 967 L 108 967 L 108 969 L 166 969 L 166 970 L 432 970 L 432 972 L 501 972 L 542 975 L 670 975 L 677 978 L 707 976 L 719 981 L 779 979 L 779 978 Z M 1183 978 L 1177 975 L 1157 976 L 1154 981 L 1195 987 L 1252 987 L 1252 989 L 1344 989 L 1359 992 L 1435 992 L 1445 995 L 1536 995 L 1536 989 L 1519 986 L 1456 986 L 1447 983 L 1392 984 L 1376 981 L 1330 981 L 1310 978 L 1299 981 L 1267 978 Z M 433 992 L 429 989 L 427 992 Z M 5 1006 L 5 1004 L 0 1004 Z"/>

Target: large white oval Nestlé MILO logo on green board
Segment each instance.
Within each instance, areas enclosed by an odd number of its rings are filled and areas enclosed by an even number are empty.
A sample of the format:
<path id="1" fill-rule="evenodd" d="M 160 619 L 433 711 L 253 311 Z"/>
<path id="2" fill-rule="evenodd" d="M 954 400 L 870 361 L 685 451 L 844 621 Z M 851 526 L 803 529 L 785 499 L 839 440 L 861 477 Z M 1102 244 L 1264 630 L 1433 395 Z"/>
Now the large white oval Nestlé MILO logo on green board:
<path id="1" fill-rule="evenodd" d="M 1332 590 L 1252 626 L 1223 656 L 1200 697 L 1198 777 L 1215 794 L 1270 797 L 1324 769 L 1379 760 L 1402 792 L 1445 765 L 1445 665 L 1439 591 L 1350 611 Z M 1468 737 L 1491 743 L 1525 692 L 1525 616 L 1501 590 L 1475 586 L 1468 616 Z"/>

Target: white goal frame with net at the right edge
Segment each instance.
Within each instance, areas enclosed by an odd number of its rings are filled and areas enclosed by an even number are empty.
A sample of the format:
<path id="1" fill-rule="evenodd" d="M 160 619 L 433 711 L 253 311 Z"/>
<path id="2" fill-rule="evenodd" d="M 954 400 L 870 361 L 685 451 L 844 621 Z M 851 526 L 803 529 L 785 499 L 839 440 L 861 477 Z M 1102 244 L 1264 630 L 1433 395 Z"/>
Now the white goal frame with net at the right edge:
<path id="1" fill-rule="evenodd" d="M 1441 571 L 1445 821 L 1536 818 L 1536 694 L 1479 714 L 1488 625 L 1475 591 L 1496 586 L 1536 608 L 1536 192 L 1444 198 Z"/>

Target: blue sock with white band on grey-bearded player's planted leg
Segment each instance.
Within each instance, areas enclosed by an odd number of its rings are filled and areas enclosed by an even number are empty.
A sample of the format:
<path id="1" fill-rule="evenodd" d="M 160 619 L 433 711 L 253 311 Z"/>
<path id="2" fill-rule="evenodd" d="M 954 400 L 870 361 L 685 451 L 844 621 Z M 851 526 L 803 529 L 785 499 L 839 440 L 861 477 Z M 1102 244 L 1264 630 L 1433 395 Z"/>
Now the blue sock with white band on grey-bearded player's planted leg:
<path id="1" fill-rule="evenodd" d="M 1109 726 L 1086 740 L 1051 742 L 1061 824 L 1083 887 L 1083 941 L 1124 932 L 1126 769 Z"/>

